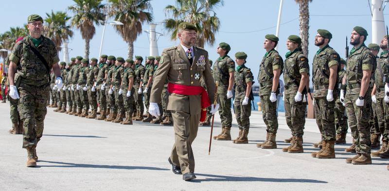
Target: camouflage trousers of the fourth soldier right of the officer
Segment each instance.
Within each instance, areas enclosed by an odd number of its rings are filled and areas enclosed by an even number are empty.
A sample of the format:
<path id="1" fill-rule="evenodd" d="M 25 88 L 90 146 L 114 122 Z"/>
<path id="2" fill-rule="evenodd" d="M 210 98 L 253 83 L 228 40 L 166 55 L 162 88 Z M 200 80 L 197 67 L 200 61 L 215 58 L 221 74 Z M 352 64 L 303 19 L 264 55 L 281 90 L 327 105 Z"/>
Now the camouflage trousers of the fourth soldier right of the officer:
<path id="1" fill-rule="evenodd" d="M 296 102 L 296 93 L 284 94 L 285 119 L 292 135 L 302 138 L 304 135 L 307 102 Z"/>

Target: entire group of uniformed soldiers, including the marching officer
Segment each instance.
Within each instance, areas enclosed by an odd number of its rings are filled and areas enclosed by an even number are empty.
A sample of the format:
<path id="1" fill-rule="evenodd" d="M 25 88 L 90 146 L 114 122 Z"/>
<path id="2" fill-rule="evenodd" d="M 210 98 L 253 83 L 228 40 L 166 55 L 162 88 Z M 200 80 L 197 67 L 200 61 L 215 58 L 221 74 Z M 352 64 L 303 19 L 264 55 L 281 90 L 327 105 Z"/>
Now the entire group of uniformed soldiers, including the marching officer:
<path id="1" fill-rule="evenodd" d="M 35 166 L 38 159 L 36 146 L 42 137 L 47 105 L 56 108 L 56 112 L 123 125 L 132 125 L 133 120 L 173 125 L 175 144 L 168 161 L 173 173 L 182 174 L 184 180 L 195 178 L 191 144 L 198 126 L 209 126 L 216 111 L 222 128 L 213 139 L 232 140 L 232 97 L 239 127 L 232 142 L 248 143 L 254 78 L 245 65 L 245 52 L 237 52 L 233 60 L 228 55 L 230 45 L 220 43 L 216 50 L 220 57 L 212 65 L 208 52 L 194 46 L 196 27 L 184 22 L 178 26 L 180 44 L 166 48 L 161 56 L 149 56 L 145 61 L 141 56 L 135 60 L 77 56 L 70 63 L 57 64 L 53 42 L 39 33 L 43 19 L 32 15 L 28 23 L 30 35 L 18 39 L 5 62 L 9 65 L 6 84 L 13 124 L 9 132 L 23 134 L 27 166 Z M 347 163 L 371 164 L 371 157 L 389 158 L 389 36 L 384 36 L 380 45 L 368 47 L 364 44 L 367 36 L 362 27 L 353 29 L 350 44 L 354 47 L 344 60 L 329 46 L 331 32 L 318 30 L 315 45 L 319 49 L 313 59 L 313 74 L 299 36 L 287 38 L 289 51 L 284 59 L 274 49 L 279 38 L 265 36 L 266 53 L 257 80 L 266 138 L 257 147 L 277 148 L 276 101 L 283 75 L 285 117 L 292 135 L 284 140 L 290 145 L 283 152 L 303 152 L 307 100 L 313 97 L 321 137 L 314 144 L 320 150 L 312 157 L 334 159 L 335 144 L 346 143 L 350 126 L 353 144 L 346 152 L 355 156 L 346 159 Z M 383 52 L 378 57 L 380 48 Z M 379 150 L 371 152 L 372 148 Z"/>

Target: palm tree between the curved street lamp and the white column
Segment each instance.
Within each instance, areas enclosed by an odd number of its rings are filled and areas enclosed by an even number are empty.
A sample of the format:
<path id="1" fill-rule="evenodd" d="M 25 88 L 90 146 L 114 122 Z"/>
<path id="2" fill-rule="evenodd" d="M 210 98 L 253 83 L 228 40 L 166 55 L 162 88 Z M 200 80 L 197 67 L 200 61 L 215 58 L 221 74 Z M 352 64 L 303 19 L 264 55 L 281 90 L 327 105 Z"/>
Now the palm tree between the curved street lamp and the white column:
<path id="1" fill-rule="evenodd" d="M 116 25 L 116 31 L 128 43 L 128 58 L 134 55 L 134 41 L 142 32 L 142 24 L 153 20 L 150 0 L 108 0 L 111 4 L 108 16 L 124 25 Z"/>

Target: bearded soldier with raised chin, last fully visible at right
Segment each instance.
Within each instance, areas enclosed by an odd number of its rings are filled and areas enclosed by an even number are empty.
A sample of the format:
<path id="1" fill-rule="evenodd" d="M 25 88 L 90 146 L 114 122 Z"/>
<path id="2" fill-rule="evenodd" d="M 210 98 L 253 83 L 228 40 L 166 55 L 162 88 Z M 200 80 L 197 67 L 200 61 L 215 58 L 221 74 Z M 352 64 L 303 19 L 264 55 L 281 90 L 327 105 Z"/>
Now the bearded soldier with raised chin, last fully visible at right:
<path id="1" fill-rule="evenodd" d="M 354 47 L 347 58 L 346 75 L 342 81 L 340 101 L 346 104 L 349 126 L 354 138 L 353 145 L 346 152 L 355 149 L 356 155 L 346 163 L 371 164 L 371 140 L 369 117 L 371 110 L 371 88 L 369 82 L 375 71 L 376 60 L 364 44 L 368 32 L 354 27 L 350 44 Z M 346 91 L 347 89 L 347 91 Z M 345 96 L 344 96 L 345 95 Z"/>

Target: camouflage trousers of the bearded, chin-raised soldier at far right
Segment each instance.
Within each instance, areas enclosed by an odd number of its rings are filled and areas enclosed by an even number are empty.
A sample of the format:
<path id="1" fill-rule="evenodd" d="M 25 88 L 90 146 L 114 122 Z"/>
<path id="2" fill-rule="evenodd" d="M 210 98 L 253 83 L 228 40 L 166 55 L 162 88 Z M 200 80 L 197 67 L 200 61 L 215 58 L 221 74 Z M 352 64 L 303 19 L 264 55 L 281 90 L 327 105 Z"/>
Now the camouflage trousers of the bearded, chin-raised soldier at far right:
<path id="1" fill-rule="evenodd" d="M 349 91 L 350 90 L 347 90 L 346 92 L 345 103 L 351 134 L 355 141 L 355 150 L 357 153 L 370 154 L 371 141 L 369 119 L 371 110 L 371 90 L 366 92 L 364 105 L 362 107 L 355 105 L 355 100 L 359 95 L 350 95 Z"/>

